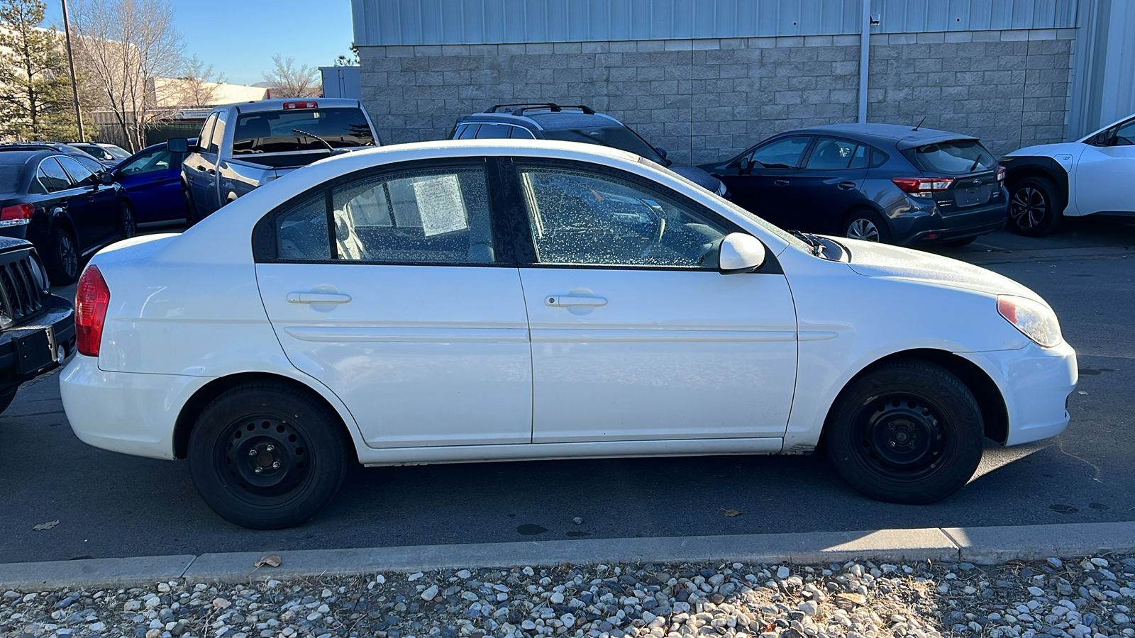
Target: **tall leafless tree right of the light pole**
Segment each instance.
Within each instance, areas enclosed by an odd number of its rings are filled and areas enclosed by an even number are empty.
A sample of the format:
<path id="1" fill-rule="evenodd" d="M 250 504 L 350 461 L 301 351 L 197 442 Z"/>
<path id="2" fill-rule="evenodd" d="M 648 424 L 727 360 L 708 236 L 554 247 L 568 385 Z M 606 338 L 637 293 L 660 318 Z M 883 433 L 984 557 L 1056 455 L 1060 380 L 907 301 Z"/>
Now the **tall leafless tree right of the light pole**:
<path id="1" fill-rule="evenodd" d="M 176 77 L 185 45 L 174 28 L 170 0 L 73 0 L 78 36 L 76 65 L 99 87 L 131 150 L 145 145 L 145 129 L 163 102 L 154 82 Z"/>

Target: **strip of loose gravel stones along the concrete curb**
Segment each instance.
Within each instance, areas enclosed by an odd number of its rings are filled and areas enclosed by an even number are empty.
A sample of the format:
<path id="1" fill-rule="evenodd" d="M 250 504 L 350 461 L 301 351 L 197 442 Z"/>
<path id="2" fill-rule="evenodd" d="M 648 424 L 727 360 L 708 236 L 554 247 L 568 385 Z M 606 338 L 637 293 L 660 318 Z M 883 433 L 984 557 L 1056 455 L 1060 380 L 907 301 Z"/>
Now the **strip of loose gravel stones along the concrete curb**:
<path id="1" fill-rule="evenodd" d="M 261 568 L 268 570 L 270 568 Z M 469 569 L 3 591 L 0 636 L 1135 637 L 1135 559 Z"/>

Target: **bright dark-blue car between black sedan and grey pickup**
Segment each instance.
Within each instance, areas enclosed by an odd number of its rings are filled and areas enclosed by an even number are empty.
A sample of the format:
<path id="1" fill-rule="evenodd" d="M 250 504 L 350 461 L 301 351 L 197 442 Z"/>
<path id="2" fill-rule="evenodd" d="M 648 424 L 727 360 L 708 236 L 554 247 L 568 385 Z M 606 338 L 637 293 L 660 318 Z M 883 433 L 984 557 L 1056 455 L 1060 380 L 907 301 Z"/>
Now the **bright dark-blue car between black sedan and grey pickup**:
<path id="1" fill-rule="evenodd" d="M 115 168 L 115 182 L 126 190 L 126 200 L 140 225 L 185 219 L 182 162 L 186 153 L 174 153 L 165 142 L 146 146 Z"/>

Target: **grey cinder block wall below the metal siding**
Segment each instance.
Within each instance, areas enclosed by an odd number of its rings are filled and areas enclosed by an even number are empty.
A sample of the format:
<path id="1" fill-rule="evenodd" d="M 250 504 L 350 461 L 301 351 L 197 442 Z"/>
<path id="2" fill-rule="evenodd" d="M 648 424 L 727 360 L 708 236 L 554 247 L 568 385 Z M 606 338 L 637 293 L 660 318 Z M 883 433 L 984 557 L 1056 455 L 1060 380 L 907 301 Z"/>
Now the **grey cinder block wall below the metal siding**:
<path id="1" fill-rule="evenodd" d="M 1063 141 L 1075 30 L 872 36 L 868 120 L 977 135 L 997 154 Z M 360 48 L 384 143 L 444 138 L 496 103 L 587 104 L 679 162 L 855 121 L 859 36 Z"/>

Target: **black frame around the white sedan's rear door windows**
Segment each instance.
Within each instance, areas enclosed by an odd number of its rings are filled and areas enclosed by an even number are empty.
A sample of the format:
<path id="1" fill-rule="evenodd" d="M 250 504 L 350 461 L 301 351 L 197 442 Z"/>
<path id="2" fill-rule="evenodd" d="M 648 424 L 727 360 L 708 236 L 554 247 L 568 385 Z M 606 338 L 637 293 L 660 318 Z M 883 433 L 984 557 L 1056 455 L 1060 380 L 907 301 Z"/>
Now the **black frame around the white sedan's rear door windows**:
<path id="1" fill-rule="evenodd" d="M 503 244 L 502 230 L 507 216 L 501 213 L 499 205 L 504 202 L 502 184 L 499 181 L 498 161 L 501 158 L 473 156 L 468 158 L 431 158 L 423 160 L 409 160 L 380 166 L 372 166 L 352 173 L 338 175 L 306 188 L 286 202 L 266 212 L 253 226 L 252 229 L 252 261 L 260 263 L 297 263 L 297 265 L 355 265 L 355 266 L 430 266 L 440 268 L 516 268 L 516 260 L 511 244 Z M 485 188 L 488 193 L 489 220 L 493 226 L 493 249 L 496 252 L 496 261 L 481 263 L 446 263 L 438 261 L 387 261 L 376 259 L 337 259 L 338 245 L 335 240 L 335 188 L 365 179 L 370 176 L 404 173 L 407 170 L 421 170 L 429 168 L 481 168 L 485 174 Z M 496 176 L 496 178 L 494 177 Z M 327 237 L 330 242 L 331 259 L 279 259 L 279 244 L 276 238 L 276 218 L 280 215 L 295 210 L 299 205 L 314 199 L 322 191 L 323 202 L 327 209 Z M 268 257 L 268 255 L 271 257 Z"/>

